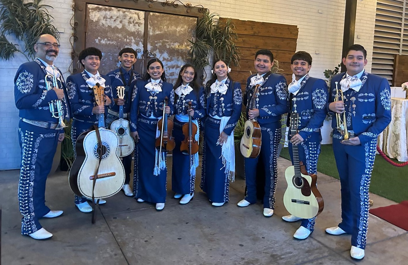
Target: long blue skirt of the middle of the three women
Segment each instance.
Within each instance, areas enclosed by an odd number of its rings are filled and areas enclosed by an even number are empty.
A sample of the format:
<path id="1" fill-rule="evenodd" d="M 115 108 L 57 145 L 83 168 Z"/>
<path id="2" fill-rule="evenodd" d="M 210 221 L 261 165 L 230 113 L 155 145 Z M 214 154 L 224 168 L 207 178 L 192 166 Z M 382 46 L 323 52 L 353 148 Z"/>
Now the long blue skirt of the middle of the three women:
<path id="1" fill-rule="evenodd" d="M 182 127 L 184 122 L 174 118 L 173 137 L 175 148 L 173 150 L 173 169 L 171 172 L 171 189 L 180 194 L 190 194 L 194 192 L 195 176 L 190 174 L 190 165 L 193 164 L 193 156 L 182 154 L 180 151 L 181 142 L 184 140 Z"/>

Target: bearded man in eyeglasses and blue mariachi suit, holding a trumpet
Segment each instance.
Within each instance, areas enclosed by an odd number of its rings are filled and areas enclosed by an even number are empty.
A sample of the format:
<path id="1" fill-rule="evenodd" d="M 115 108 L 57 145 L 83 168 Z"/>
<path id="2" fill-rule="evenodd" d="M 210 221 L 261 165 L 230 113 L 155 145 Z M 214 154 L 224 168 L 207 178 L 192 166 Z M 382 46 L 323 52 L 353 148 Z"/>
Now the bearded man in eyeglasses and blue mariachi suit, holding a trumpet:
<path id="1" fill-rule="evenodd" d="M 20 65 L 14 78 L 14 99 L 20 116 L 18 135 L 21 170 L 18 201 L 23 216 L 21 234 L 38 240 L 52 236 L 40 225 L 38 219 L 54 218 L 62 214 L 62 211 L 52 211 L 45 205 L 47 175 L 51 171 L 57 144 L 65 137 L 64 129 L 58 125 L 59 119 L 55 116 L 61 115 L 66 120 L 71 117 L 64 77 L 53 65 L 59 47 L 52 35 L 43 34 L 38 37 L 34 44 L 35 60 Z M 53 78 L 46 78 L 48 74 Z M 58 100 L 62 106 L 60 113 L 52 115 L 49 106 Z"/>

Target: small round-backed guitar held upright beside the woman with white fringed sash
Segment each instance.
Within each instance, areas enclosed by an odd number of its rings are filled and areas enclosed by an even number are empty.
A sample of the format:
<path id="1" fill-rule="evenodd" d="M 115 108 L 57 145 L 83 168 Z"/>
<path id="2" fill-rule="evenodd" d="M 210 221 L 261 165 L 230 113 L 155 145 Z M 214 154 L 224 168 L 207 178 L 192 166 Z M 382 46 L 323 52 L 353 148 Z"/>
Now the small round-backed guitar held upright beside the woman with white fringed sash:
<path id="1" fill-rule="evenodd" d="M 249 109 L 254 109 L 255 102 L 259 96 L 259 85 L 256 85 L 252 94 Z M 246 158 L 256 158 L 261 151 L 261 127 L 254 119 L 248 119 L 244 125 L 244 135 L 241 138 L 239 149 Z"/>

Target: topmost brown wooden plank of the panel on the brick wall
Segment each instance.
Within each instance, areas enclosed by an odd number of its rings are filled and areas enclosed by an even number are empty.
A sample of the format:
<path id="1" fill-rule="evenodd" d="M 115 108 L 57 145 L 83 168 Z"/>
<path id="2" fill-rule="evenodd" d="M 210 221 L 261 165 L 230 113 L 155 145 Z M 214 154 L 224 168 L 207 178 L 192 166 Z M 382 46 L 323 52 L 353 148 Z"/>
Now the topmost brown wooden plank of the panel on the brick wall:
<path id="1" fill-rule="evenodd" d="M 297 39 L 299 29 L 296 25 L 266 23 L 248 20 L 231 19 L 238 34 L 256 36 L 274 36 Z"/>

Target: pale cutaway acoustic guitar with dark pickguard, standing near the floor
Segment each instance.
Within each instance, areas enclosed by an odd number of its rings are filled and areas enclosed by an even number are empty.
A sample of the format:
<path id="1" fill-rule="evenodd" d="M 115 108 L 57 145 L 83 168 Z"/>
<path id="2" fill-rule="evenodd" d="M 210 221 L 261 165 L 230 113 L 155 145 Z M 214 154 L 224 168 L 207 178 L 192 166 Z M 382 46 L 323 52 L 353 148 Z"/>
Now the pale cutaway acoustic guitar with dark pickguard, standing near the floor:
<path id="1" fill-rule="evenodd" d="M 290 134 L 297 134 L 299 115 L 290 114 Z M 323 211 L 322 195 L 317 190 L 316 174 L 308 174 L 306 166 L 299 161 L 297 145 L 292 145 L 293 166 L 286 168 L 285 178 L 288 188 L 283 196 L 286 210 L 294 216 L 310 219 Z"/>

